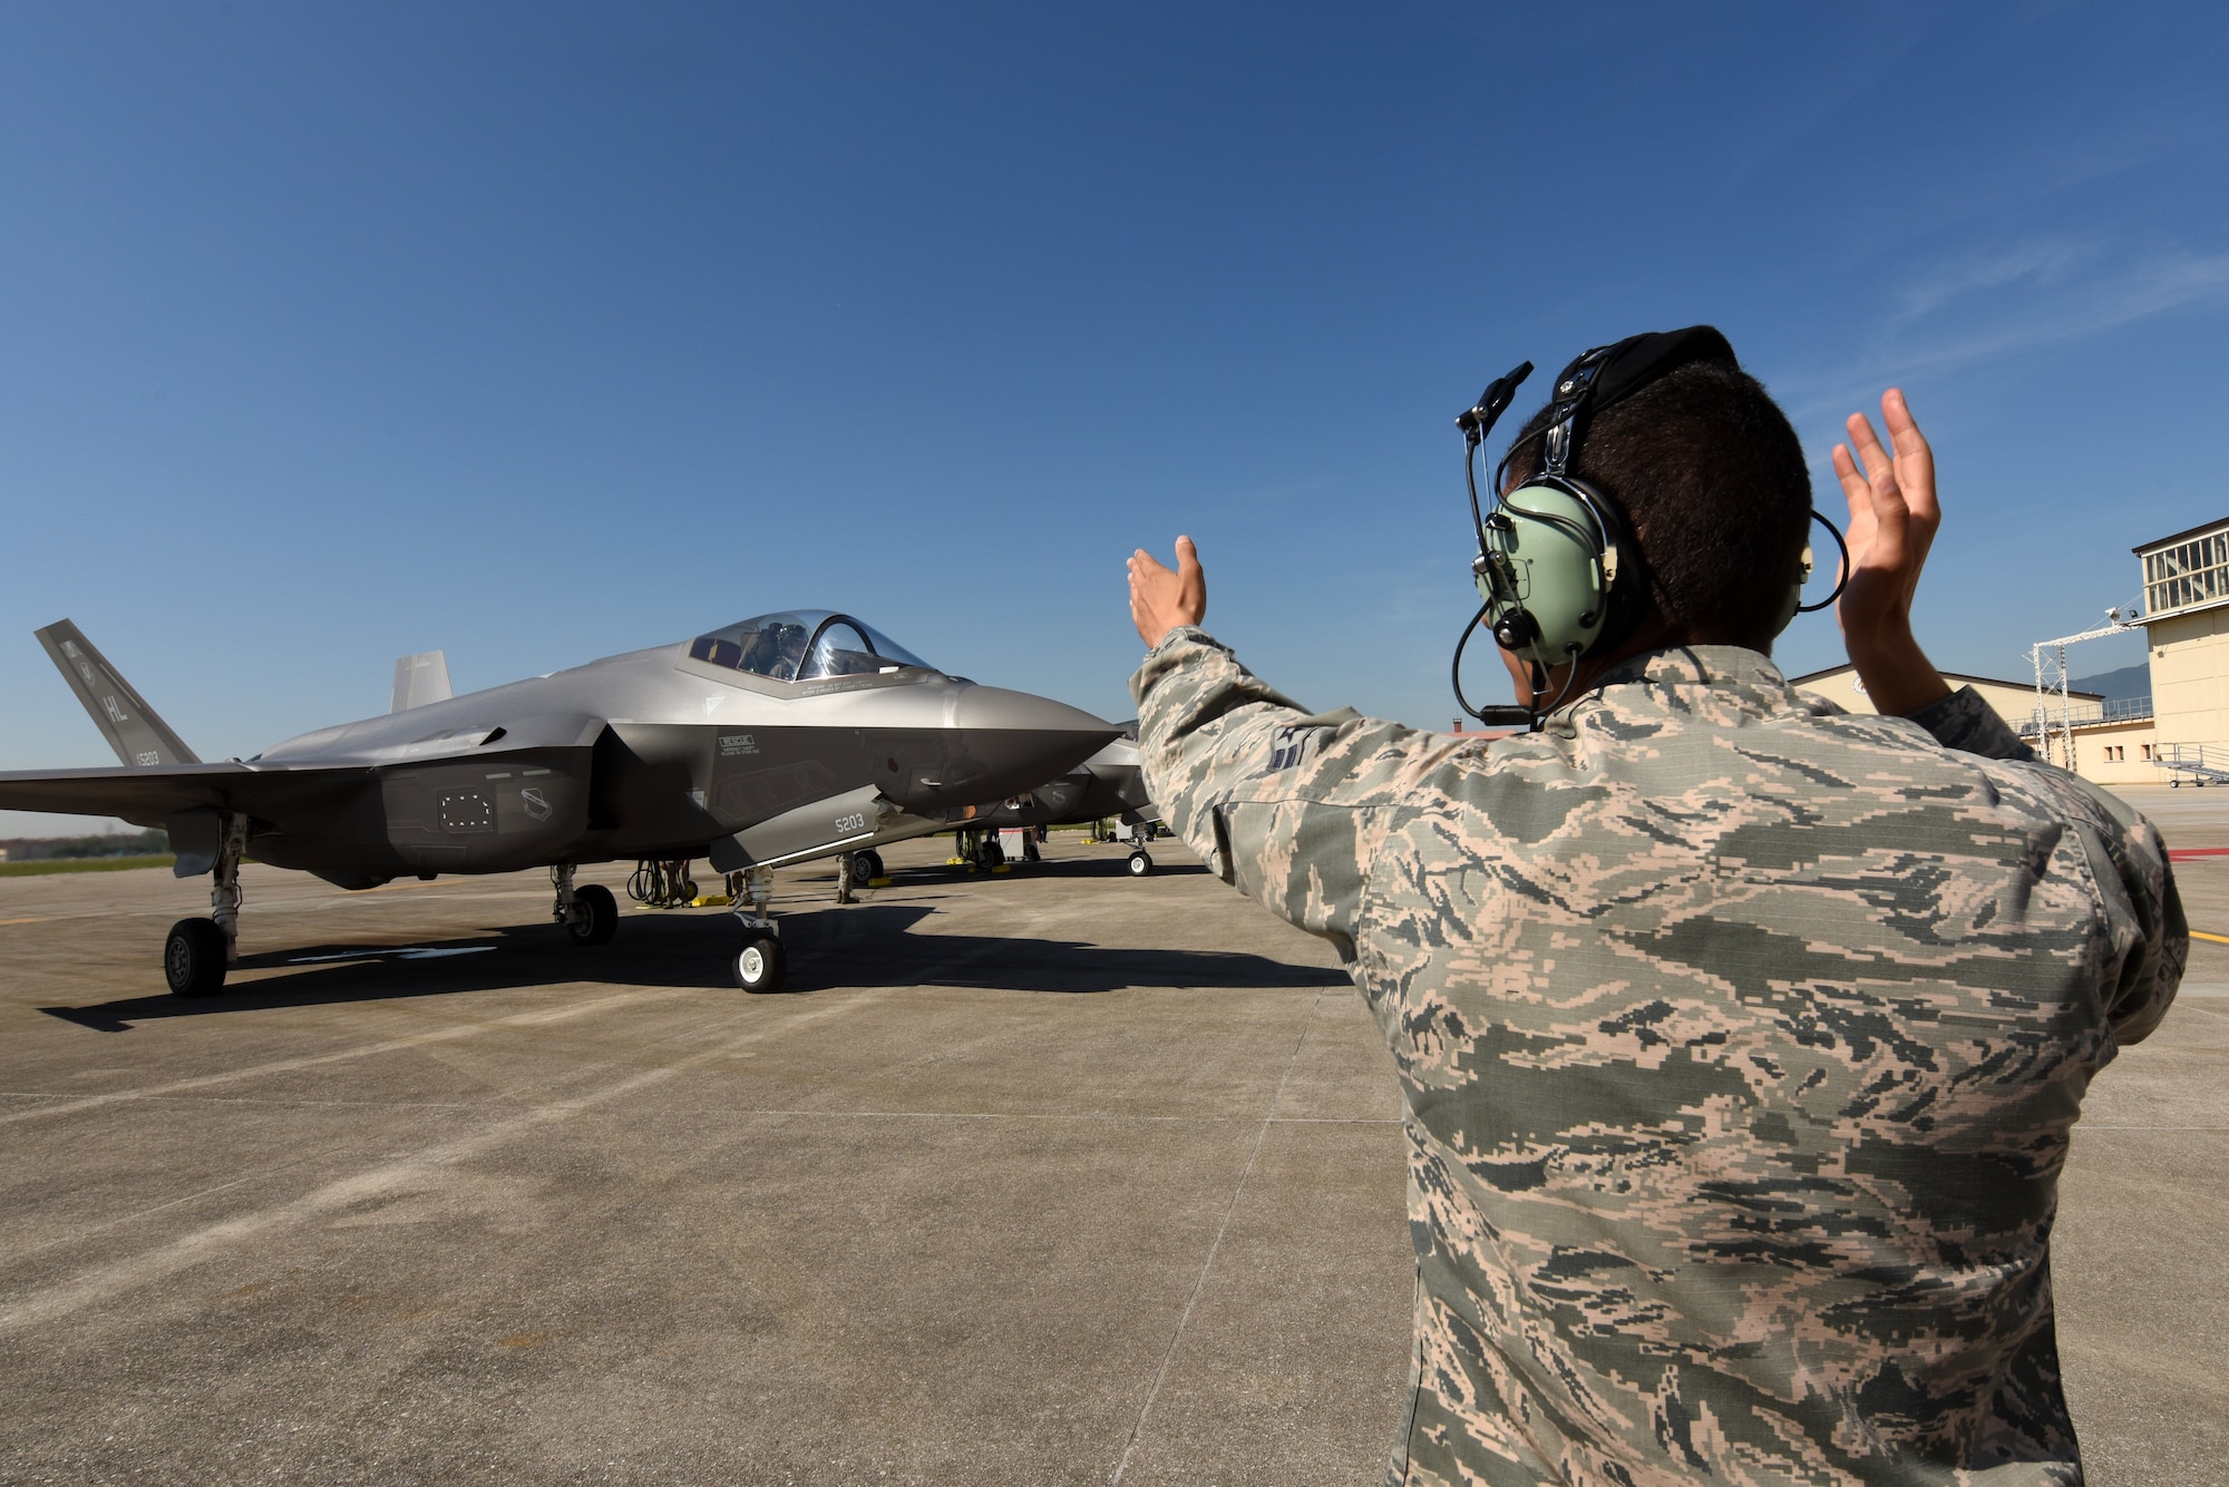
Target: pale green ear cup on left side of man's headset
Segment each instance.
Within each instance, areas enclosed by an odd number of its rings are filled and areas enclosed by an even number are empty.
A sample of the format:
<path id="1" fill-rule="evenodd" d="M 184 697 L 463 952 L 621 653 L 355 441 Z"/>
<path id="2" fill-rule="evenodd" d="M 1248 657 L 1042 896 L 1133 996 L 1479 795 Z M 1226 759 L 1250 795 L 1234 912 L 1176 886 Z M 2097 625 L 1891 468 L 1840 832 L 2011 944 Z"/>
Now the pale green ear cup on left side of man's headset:
<path id="1" fill-rule="evenodd" d="M 1587 503 L 1554 485 L 1520 485 L 1487 519 L 1485 545 L 1478 594 L 1502 650 L 1540 666 L 1585 654 L 1603 632 L 1618 561 Z"/>

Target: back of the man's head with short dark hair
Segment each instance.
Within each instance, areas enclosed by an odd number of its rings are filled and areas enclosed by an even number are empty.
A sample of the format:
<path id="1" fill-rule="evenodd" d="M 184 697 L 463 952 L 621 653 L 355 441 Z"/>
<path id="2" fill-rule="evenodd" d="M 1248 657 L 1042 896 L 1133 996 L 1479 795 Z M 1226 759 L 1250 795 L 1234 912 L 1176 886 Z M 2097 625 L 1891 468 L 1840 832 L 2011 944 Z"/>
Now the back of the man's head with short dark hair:
<path id="1" fill-rule="evenodd" d="M 1518 434 L 1509 485 L 1540 470 L 1547 407 Z M 1765 385 L 1694 361 L 1576 430 L 1569 474 L 1618 503 L 1641 541 L 1641 632 L 1772 650 L 1810 530 L 1810 467 Z"/>

